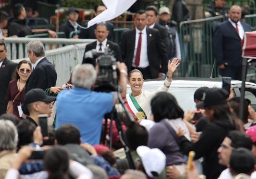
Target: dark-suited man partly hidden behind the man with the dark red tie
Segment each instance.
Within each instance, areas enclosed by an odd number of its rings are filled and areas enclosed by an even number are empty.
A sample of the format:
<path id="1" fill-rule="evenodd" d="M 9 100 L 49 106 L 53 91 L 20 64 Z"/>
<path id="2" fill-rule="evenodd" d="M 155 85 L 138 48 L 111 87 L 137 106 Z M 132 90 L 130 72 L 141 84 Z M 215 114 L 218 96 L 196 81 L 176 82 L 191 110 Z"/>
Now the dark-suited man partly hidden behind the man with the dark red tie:
<path id="1" fill-rule="evenodd" d="M 158 21 L 158 9 L 155 6 L 146 7 L 146 15 L 147 15 L 147 26 L 149 28 L 155 28 L 159 31 L 160 36 L 165 44 L 166 51 L 169 53 L 169 49 L 171 48 L 171 43 L 168 37 L 168 31 L 166 28 L 162 27 L 157 23 Z M 173 47 L 174 48 L 174 47 Z"/>

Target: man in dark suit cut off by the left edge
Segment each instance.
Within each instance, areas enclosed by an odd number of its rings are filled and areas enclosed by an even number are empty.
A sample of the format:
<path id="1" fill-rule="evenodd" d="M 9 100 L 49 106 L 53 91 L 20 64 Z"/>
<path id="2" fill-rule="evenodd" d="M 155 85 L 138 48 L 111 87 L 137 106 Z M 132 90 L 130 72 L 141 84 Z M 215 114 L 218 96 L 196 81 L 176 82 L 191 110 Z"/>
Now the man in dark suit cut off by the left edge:
<path id="1" fill-rule="evenodd" d="M 7 50 L 3 40 L 0 40 L 0 115 L 6 112 L 8 101 L 5 100 L 8 84 L 12 80 L 17 64 L 6 58 Z"/>

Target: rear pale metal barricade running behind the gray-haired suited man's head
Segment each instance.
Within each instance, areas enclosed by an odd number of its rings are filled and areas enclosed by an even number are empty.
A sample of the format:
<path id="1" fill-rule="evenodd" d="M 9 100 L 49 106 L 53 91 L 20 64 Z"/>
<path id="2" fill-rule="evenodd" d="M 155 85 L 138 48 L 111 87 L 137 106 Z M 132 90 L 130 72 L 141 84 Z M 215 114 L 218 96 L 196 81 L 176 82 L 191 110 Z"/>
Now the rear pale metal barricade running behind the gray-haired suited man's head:
<path id="1" fill-rule="evenodd" d="M 68 39 L 68 38 L 26 38 L 26 37 L 8 37 L 5 38 L 8 50 L 8 59 L 21 59 L 27 57 L 26 45 L 31 40 L 40 40 L 45 45 L 45 51 L 58 49 L 67 45 L 82 43 L 91 43 L 95 39 Z"/>

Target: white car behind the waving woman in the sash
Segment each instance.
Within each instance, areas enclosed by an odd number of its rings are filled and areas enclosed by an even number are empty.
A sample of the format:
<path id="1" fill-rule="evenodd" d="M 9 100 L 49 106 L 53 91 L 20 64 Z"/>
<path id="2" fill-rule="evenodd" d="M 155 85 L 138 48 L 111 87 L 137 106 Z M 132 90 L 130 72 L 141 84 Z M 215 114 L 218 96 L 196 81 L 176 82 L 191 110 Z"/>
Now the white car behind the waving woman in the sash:
<path id="1" fill-rule="evenodd" d="M 164 83 L 163 79 L 145 80 L 143 89 L 145 91 L 154 91 Z M 202 87 L 221 88 L 222 80 L 220 78 L 173 78 L 170 89 L 168 90 L 178 101 L 184 112 L 191 109 L 196 109 L 194 102 L 195 91 Z M 231 87 L 233 88 L 236 97 L 240 97 L 241 81 L 232 80 Z M 131 92 L 130 86 L 127 92 Z M 251 101 L 251 106 L 256 110 L 256 84 L 246 82 L 245 98 Z"/>

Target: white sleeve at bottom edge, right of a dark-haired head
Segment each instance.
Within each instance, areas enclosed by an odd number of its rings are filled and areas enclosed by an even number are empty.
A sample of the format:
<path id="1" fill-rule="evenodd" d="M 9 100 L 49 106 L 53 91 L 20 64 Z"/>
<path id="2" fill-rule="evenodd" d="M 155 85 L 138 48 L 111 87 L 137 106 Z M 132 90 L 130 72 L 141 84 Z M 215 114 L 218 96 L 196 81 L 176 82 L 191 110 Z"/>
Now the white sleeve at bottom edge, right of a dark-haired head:
<path id="1" fill-rule="evenodd" d="M 75 179 L 92 179 L 93 174 L 92 172 L 83 166 L 82 164 L 72 161 L 71 164 L 69 164 L 69 173 L 72 177 Z"/>

